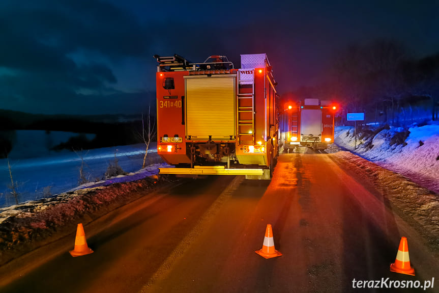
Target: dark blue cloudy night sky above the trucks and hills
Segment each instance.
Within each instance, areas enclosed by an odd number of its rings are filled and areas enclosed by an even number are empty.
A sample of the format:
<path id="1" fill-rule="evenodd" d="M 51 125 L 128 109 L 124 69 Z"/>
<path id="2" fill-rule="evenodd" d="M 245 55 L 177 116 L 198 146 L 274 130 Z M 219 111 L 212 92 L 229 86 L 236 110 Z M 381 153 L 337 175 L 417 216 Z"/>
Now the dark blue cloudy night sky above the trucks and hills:
<path id="1" fill-rule="evenodd" d="M 439 2 L 39 0 L 0 2 L 0 109 L 139 113 L 156 61 L 267 53 L 280 94 L 318 83 L 337 51 L 377 38 L 439 51 Z"/>

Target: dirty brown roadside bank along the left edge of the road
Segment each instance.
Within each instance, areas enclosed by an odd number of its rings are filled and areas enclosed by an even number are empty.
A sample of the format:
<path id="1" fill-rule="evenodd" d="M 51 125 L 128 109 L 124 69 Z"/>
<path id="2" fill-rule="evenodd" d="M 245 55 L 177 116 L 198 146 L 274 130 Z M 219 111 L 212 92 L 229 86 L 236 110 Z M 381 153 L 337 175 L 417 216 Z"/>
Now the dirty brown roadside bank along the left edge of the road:
<path id="1" fill-rule="evenodd" d="M 77 223 L 86 225 L 169 182 L 167 177 L 159 180 L 157 175 L 146 176 L 150 171 L 109 179 L 121 182 L 106 187 L 83 187 L 53 198 L 1 208 L 0 265 L 71 234 Z M 143 179 L 136 180 L 138 176 Z"/>

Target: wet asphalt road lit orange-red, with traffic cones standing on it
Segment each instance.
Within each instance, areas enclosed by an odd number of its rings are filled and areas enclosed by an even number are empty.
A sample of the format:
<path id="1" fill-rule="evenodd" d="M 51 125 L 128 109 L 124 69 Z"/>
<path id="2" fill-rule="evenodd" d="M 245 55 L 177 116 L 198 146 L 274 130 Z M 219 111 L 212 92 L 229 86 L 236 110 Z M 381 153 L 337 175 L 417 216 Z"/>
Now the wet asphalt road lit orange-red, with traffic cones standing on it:
<path id="1" fill-rule="evenodd" d="M 255 253 L 267 224 L 280 257 Z M 329 154 L 282 154 L 271 182 L 184 180 L 84 228 L 93 254 L 73 258 L 66 247 L 0 291 L 417 292 L 354 289 L 353 280 L 424 285 L 434 277 L 426 291 L 439 292 L 437 250 L 422 227 Z M 389 271 L 401 236 L 416 276 Z"/>

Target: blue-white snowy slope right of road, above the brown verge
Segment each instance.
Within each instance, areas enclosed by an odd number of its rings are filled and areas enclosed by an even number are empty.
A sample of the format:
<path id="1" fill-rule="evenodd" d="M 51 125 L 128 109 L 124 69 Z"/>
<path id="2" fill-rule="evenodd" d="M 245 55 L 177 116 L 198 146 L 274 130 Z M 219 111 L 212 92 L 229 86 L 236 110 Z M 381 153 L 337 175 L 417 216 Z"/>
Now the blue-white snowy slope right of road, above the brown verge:
<path id="1" fill-rule="evenodd" d="M 370 126 L 357 131 L 355 149 L 354 127 L 339 126 L 335 143 L 439 194 L 439 122 L 387 128 Z"/>

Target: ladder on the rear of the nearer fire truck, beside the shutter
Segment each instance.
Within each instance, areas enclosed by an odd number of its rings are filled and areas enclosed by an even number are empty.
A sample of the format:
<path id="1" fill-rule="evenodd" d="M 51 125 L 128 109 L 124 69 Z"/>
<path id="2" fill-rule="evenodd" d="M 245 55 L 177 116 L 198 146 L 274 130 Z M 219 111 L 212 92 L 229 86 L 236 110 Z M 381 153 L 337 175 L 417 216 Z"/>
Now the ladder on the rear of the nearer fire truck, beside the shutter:
<path id="1" fill-rule="evenodd" d="M 238 136 L 251 136 L 254 144 L 254 70 L 239 70 L 238 74 Z"/>

